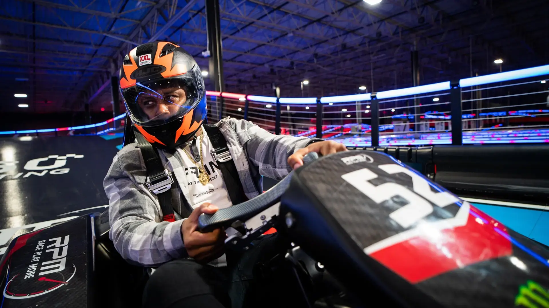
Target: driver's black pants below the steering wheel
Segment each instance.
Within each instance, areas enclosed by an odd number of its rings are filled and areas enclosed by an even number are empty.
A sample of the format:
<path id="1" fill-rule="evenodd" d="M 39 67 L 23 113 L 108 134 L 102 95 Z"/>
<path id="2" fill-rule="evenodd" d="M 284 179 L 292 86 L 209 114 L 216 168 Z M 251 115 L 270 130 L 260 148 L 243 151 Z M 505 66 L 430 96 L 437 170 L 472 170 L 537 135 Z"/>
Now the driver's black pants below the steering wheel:
<path id="1" fill-rule="evenodd" d="M 143 293 L 145 308 L 240 308 L 265 306 L 261 286 L 253 284 L 254 265 L 284 252 L 277 234 L 261 236 L 244 253 L 227 252 L 227 267 L 173 260 L 150 276 Z"/>

